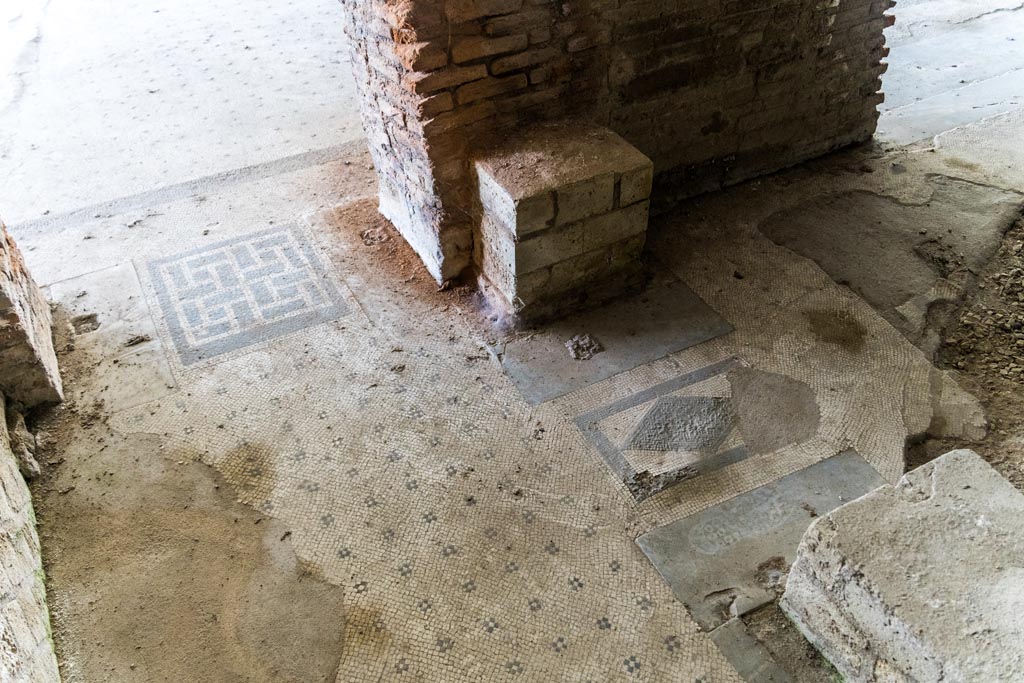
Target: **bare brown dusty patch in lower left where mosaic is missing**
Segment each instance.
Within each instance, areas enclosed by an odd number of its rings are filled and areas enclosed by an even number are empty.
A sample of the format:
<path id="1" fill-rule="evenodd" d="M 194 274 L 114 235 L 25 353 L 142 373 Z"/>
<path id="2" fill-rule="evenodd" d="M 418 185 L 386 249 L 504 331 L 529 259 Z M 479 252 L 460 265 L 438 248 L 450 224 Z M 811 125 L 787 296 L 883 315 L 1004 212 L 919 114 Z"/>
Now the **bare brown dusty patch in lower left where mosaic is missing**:
<path id="1" fill-rule="evenodd" d="M 88 436 L 36 486 L 66 681 L 334 681 L 343 592 L 286 525 L 158 437 Z"/>

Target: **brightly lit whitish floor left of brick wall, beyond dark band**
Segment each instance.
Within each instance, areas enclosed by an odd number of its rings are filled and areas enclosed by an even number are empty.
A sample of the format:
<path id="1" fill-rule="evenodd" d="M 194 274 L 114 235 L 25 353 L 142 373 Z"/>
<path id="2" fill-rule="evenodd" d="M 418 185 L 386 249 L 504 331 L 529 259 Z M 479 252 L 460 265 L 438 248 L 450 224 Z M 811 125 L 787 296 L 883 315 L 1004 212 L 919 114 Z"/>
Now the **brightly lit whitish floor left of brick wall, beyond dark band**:
<path id="1" fill-rule="evenodd" d="M 331 0 L 24 8 L 0 101 L 8 224 L 362 137 Z"/>

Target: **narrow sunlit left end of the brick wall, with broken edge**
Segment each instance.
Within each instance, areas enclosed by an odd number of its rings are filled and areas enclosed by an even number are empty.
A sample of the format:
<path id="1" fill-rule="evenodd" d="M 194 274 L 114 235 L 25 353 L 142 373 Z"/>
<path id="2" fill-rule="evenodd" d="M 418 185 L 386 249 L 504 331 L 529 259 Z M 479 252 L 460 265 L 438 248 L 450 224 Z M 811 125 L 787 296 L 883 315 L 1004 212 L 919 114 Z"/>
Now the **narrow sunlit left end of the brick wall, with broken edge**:
<path id="1" fill-rule="evenodd" d="M 380 211 L 443 283 L 470 260 L 470 222 L 449 210 L 445 197 L 458 193 L 445 177 L 462 177 L 465 153 L 458 140 L 434 134 L 428 125 L 453 109 L 449 89 L 478 78 L 481 70 L 486 75 L 486 67 L 446 69 L 443 0 L 341 4 L 380 182 Z"/>

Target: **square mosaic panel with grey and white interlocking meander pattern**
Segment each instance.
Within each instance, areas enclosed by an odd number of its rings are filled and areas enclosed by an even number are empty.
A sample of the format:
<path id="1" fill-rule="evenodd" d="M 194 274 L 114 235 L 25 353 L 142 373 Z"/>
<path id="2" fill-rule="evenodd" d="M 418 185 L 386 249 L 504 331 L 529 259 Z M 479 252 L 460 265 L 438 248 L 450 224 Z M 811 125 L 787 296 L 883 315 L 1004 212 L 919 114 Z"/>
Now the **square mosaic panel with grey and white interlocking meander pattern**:
<path id="1" fill-rule="evenodd" d="M 185 366 L 348 313 L 309 239 L 295 226 L 157 259 L 148 268 Z"/>

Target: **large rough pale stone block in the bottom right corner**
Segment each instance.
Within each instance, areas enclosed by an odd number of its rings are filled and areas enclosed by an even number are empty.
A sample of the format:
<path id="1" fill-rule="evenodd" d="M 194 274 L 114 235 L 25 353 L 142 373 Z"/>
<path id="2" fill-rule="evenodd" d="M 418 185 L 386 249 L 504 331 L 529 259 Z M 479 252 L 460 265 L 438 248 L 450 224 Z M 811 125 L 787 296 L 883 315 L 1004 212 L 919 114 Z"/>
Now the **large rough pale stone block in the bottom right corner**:
<path id="1" fill-rule="evenodd" d="M 1024 672 L 1024 495 L 954 451 L 808 529 L 781 606 L 849 683 Z"/>

